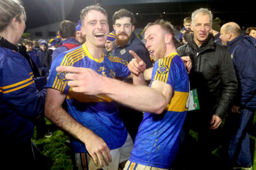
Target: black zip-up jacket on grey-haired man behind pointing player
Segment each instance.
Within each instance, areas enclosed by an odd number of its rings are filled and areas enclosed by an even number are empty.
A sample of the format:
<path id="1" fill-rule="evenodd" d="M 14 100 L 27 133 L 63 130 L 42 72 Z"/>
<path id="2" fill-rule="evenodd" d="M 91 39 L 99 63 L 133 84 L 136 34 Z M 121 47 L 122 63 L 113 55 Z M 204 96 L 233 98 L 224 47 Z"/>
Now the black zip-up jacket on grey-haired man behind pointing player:
<path id="1" fill-rule="evenodd" d="M 236 72 L 228 50 L 214 43 L 213 34 L 200 47 L 194 34 L 187 37 L 187 44 L 177 49 L 178 54 L 189 56 L 192 61 L 189 73 L 190 89 L 197 89 L 200 110 L 223 119 L 237 91 Z"/>

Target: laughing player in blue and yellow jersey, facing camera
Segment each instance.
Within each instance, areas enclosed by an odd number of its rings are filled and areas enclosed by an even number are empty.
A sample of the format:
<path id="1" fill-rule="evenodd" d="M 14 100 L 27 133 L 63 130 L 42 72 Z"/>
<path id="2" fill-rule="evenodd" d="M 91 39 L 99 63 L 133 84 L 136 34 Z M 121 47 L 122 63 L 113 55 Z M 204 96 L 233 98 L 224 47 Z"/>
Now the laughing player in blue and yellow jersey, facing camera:
<path id="1" fill-rule="evenodd" d="M 78 169 L 117 170 L 119 163 L 125 164 L 129 159 L 134 142 L 119 117 L 116 102 L 105 94 L 72 91 L 65 79 L 66 72 L 56 72 L 56 67 L 88 68 L 112 79 L 131 73 L 128 62 L 103 53 L 109 33 L 106 11 L 99 5 L 88 6 L 81 11 L 80 18 L 86 42 L 54 59 L 46 85 L 45 115 L 73 137 L 70 140 Z M 61 108 L 64 100 L 68 113 Z"/>

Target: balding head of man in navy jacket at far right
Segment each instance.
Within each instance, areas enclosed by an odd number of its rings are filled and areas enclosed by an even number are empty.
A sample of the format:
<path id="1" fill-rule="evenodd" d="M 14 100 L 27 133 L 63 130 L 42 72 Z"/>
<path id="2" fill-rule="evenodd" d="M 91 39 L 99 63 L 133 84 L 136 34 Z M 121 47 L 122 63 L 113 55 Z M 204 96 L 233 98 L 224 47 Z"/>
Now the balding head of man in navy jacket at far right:
<path id="1" fill-rule="evenodd" d="M 221 27 L 221 36 L 223 46 L 226 46 L 227 41 L 232 41 L 241 34 L 240 26 L 235 22 L 228 22 Z"/>

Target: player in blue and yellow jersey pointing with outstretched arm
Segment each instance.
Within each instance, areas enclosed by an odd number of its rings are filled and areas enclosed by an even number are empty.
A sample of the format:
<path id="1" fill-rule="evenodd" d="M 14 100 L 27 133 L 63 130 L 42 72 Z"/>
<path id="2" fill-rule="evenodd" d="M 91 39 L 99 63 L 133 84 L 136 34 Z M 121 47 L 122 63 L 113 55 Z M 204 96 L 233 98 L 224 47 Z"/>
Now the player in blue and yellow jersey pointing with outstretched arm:
<path id="1" fill-rule="evenodd" d="M 68 71 L 68 85 L 83 94 L 106 94 L 117 102 L 144 111 L 134 148 L 124 170 L 168 170 L 178 151 L 189 94 L 188 73 L 176 52 L 170 22 L 157 20 L 145 27 L 146 48 L 156 61 L 150 87 L 144 80 L 145 63 L 135 57 L 128 67 L 135 74 L 135 85 L 98 76 L 87 68 L 58 67 Z"/>

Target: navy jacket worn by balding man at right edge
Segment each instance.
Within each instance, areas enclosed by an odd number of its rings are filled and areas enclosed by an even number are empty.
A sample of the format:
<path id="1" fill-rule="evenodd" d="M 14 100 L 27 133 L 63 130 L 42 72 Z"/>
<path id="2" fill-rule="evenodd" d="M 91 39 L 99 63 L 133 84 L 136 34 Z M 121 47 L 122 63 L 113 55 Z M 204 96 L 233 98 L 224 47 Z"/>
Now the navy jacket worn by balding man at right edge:
<path id="1" fill-rule="evenodd" d="M 250 36 L 239 35 L 227 42 L 227 48 L 231 54 L 239 83 L 234 104 L 256 110 L 256 95 L 247 102 L 256 89 L 255 39 Z"/>

